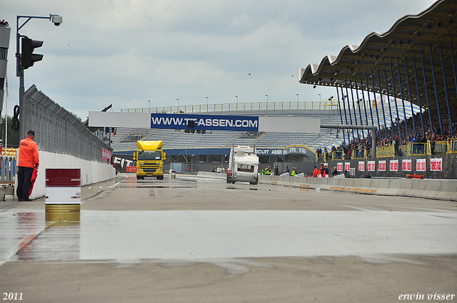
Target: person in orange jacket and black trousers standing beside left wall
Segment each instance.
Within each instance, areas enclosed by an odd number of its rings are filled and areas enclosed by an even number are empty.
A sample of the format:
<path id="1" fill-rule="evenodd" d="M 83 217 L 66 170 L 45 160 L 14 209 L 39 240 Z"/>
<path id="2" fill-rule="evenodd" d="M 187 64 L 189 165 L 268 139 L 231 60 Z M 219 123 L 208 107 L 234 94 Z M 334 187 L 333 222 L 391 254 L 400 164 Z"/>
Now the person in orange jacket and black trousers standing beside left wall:
<path id="1" fill-rule="evenodd" d="M 34 142 L 33 130 L 27 132 L 27 138 L 19 143 L 16 195 L 19 201 L 30 201 L 31 175 L 40 165 L 38 145 Z"/>

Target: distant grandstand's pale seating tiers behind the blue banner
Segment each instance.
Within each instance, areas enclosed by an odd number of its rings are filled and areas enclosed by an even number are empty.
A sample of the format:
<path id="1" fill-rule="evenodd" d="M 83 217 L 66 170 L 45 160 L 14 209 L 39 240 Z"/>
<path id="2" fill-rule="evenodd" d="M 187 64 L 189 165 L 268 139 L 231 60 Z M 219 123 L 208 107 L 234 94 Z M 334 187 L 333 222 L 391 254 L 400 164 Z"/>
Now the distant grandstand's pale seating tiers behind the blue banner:
<path id="1" fill-rule="evenodd" d="M 373 101 L 367 101 L 374 103 Z M 359 103 L 361 104 L 361 103 Z M 295 118 L 320 118 L 322 124 L 346 124 L 345 117 L 340 114 L 338 106 L 322 106 L 323 109 L 276 109 L 278 106 L 271 109 L 261 109 L 257 111 L 220 111 L 221 115 L 258 115 L 258 116 L 286 116 Z M 411 116 L 411 106 L 408 103 L 406 111 L 403 111 L 401 102 L 398 106 L 393 108 L 383 108 L 378 103 L 377 108 L 365 105 L 361 111 L 358 108 L 346 108 L 360 116 L 357 120 L 362 120 L 363 124 L 371 125 L 371 115 L 376 115 L 376 109 L 378 115 L 386 118 L 388 121 L 387 125 L 392 125 L 396 118 L 401 119 L 408 118 Z M 194 106 L 194 108 L 200 108 Z M 216 107 L 215 107 L 216 108 Z M 219 108 L 224 108 L 220 106 Z M 241 108 L 241 106 L 240 106 Z M 246 108 L 246 106 L 243 106 Z M 251 108 L 251 107 L 248 107 Z M 290 106 L 283 106 L 281 108 L 290 108 Z M 328 109 L 329 108 L 329 109 Z M 365 108 L 368 108 L 367 115 L 365 115 Z M 371 111 L 369 111 L 371 108 Z M 398 111 L 396 109 L 398 108 Z M 143 109 L 136 110 L 137 112 L 143 112 Z M 154 109 L 153 109 L 154 111 Z M 413 112 L 419 111 L 418 106 L 413 107 Z M 217 113 L 217 112 L 211 112 Z M 363 114 L 362 114 L 363 113 Z M 398 115 L 397 115 L 398 113 Z M 385 126 L 380 122 L 384 119 L 381 117 L 375 119 L 375 125 L 378 129 L 383 129 Z M 352 123 L 348 122 L 348 124 Z M 360 124 L 360 122 L 359 122 Z M 352 135 L 352 134 L 351 134 Z M 356 133 L 355 133 L 356 135 Z M 361 131 L 361 136 L 368 136 L 365 130 Z M 355 137 L 356 138 L 356 137 Z M 212 130 L 206 133 L 185 133 L 184 130 L 171 130 L 171 129 L 146 129 L 146 128 L 117 128 L 116 135 L 111 136 L 111 143 L 114 153 L 133 153 L 136 150 L 137 140 L 162 140 L 164 142 L 164 150 L 168 155 L 179 155 L 182 150 L 193 150 L 192 153 L 196 155 L 224 155 L 231 145 L 255 145 L 256 148 L 286 148 L 290 145 L 306 145 L 311 150 L 317 148 L 328 148 L 332 146 L 339 146 L 346 140 L 353 140 L 354 137 L 349 138 L 343 133 L 339 133 L 337 130 L 321 129 L 321 133 L 246 133 L 226 130 Z"/>

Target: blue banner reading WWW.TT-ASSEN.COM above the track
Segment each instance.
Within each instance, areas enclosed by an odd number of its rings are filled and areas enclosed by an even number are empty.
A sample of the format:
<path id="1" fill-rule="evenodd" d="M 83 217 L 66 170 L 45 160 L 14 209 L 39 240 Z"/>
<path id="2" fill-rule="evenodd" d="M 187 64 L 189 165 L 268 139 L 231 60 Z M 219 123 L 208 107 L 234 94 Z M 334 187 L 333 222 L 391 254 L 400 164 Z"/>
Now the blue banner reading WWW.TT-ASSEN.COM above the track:
<path id="1" fill-rule="evenodd" d="M 190 127 L 189 121 L 193 121 Z M 151 128 L 258 131 L 258 117 L 248 115 L 151 113 Z"/>

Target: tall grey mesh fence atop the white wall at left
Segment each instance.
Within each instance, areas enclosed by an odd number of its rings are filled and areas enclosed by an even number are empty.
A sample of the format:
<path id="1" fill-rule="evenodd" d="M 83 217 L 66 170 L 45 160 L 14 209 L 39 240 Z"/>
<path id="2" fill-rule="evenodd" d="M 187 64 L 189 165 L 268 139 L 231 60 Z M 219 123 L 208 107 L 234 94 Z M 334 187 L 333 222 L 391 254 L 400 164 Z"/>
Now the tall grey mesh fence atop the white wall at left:
<path id="1" fill-rule="evenodd" d="M 24 94 L 23 108 L 21 123 L 25 123 L 26 131 L 34 130 L 39 150 L 105 163 L 111 158 L 111 147 L 36 86 L 31 86 Z"/>

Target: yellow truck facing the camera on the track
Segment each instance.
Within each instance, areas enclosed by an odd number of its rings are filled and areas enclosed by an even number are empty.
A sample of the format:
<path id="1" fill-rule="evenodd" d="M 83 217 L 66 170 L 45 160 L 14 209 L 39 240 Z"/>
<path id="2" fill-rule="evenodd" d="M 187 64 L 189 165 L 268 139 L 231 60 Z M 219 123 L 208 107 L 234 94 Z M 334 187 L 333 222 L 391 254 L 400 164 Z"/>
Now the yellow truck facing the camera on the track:
<path id="1" fill-rule="evenodd" d="M 134 153 L 136 160 L 136 179 L 144 177 L 156 177 L 164 180 L 164 160 L 166 154 L 162 150 L 162 141 L 138 141 L 138 150 Z"/>

